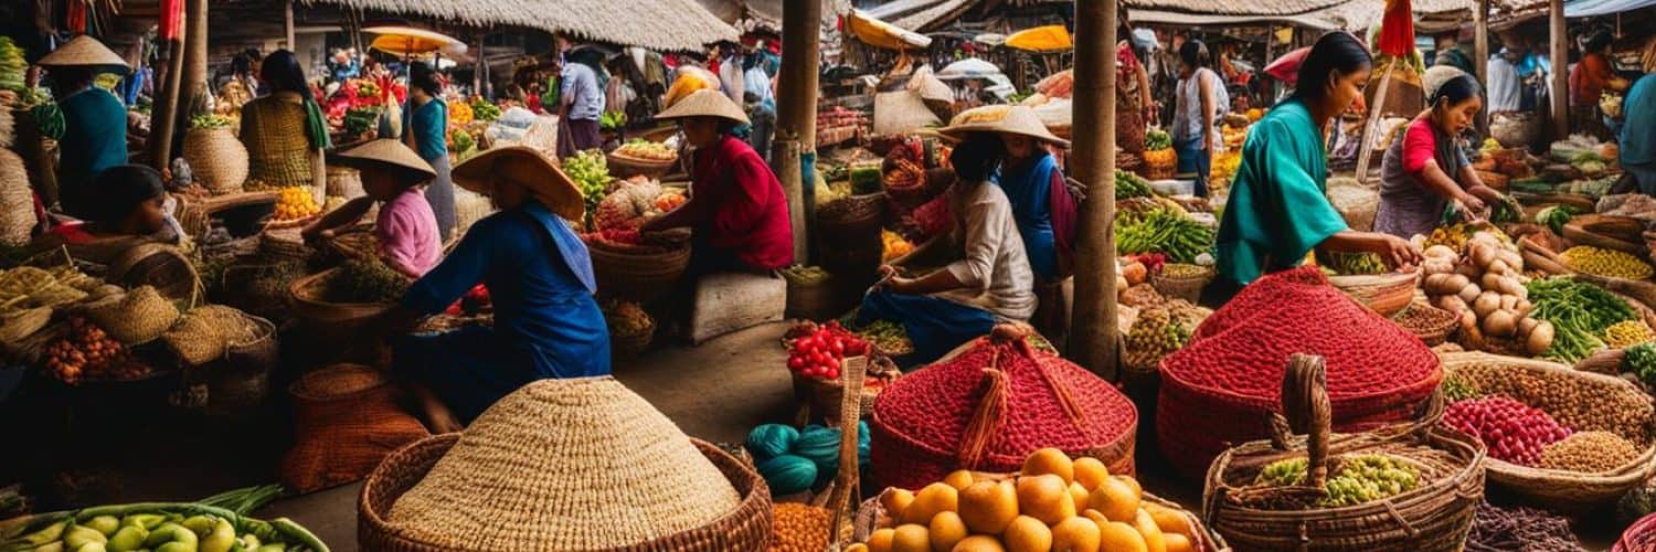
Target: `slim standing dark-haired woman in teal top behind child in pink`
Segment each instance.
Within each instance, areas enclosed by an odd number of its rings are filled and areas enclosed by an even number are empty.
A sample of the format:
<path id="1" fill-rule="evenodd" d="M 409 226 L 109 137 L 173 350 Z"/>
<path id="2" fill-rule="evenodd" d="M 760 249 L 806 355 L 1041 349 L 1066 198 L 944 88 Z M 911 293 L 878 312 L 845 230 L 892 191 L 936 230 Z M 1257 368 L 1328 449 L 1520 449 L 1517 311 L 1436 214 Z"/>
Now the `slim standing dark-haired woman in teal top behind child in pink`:
<path id="1" fill-rule="evenodd" d="M 437 215 L 437 235 L 454 235 L 454 182 L 449 181 L 449 104 L 442 101 L 437 70 L 424 61 L 409 66 L 409 101 L 402 106 L 402 143 L 431 162 L 437 177 L 426 186 L 426 201 Z"/>

